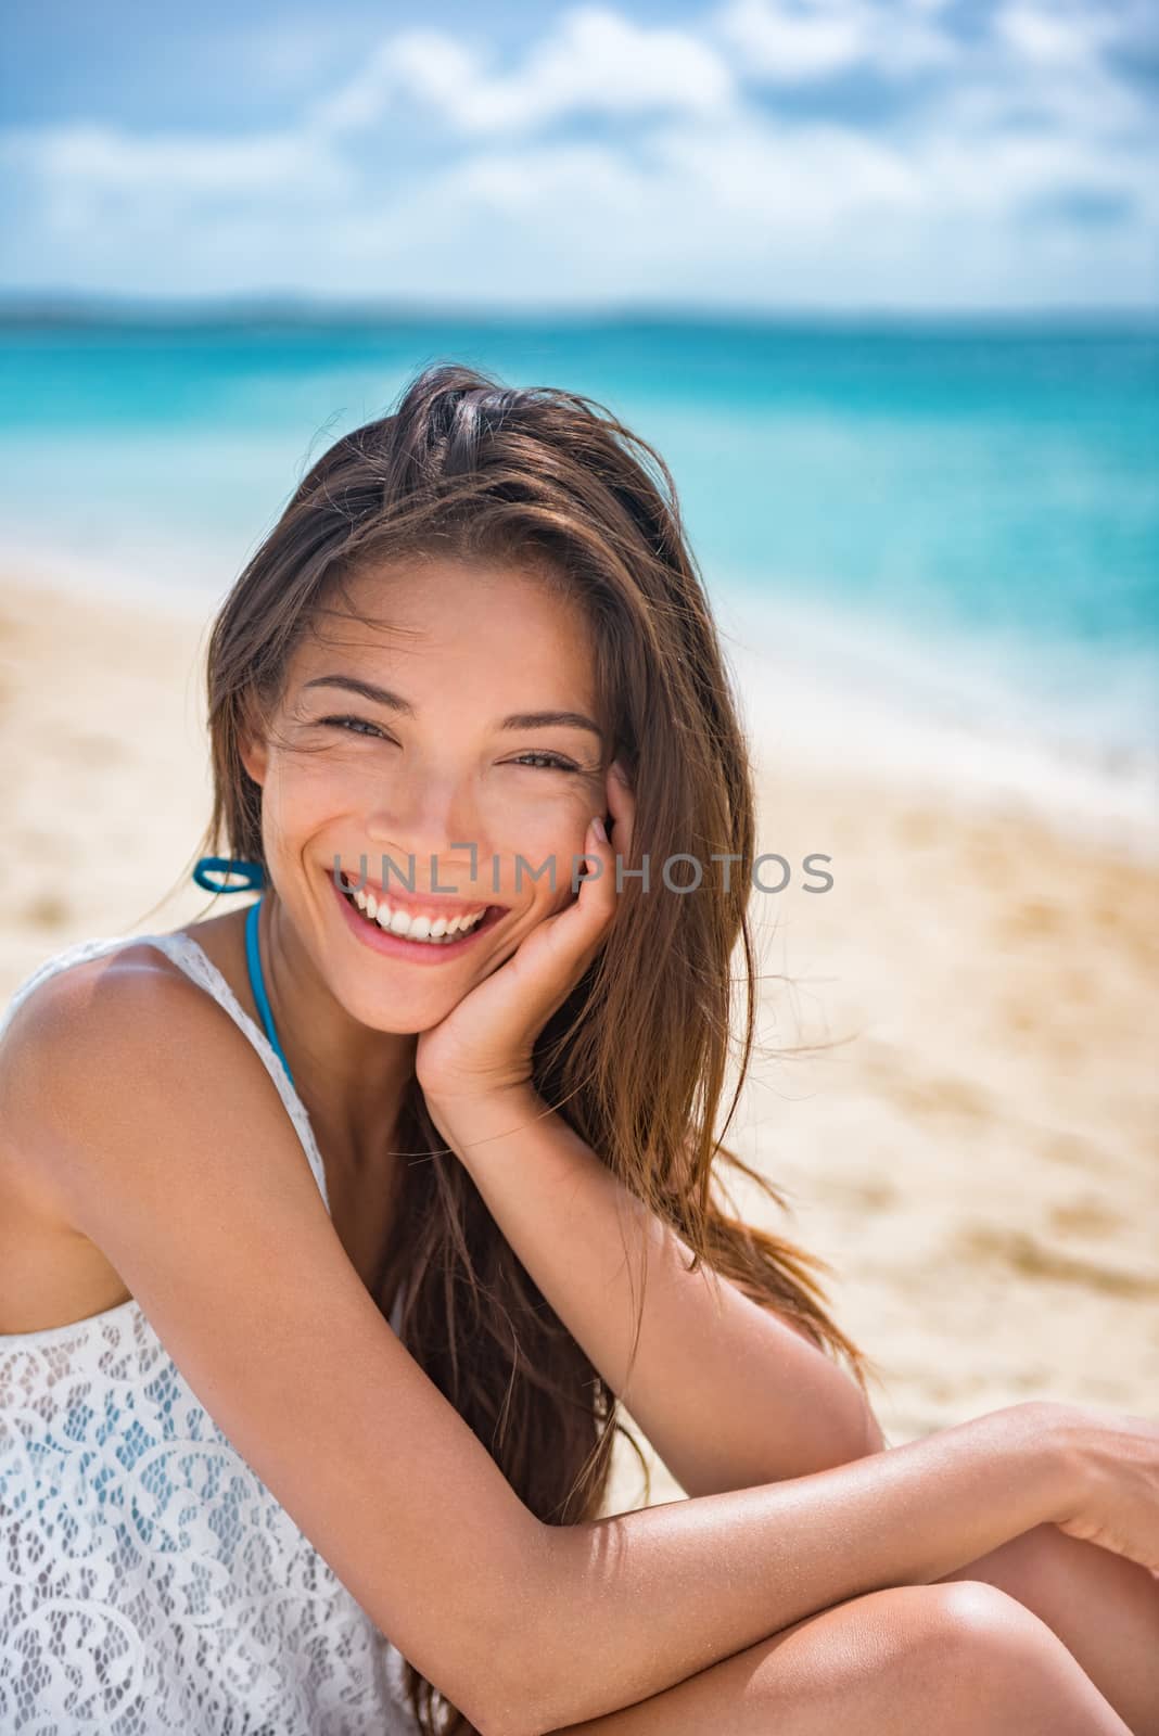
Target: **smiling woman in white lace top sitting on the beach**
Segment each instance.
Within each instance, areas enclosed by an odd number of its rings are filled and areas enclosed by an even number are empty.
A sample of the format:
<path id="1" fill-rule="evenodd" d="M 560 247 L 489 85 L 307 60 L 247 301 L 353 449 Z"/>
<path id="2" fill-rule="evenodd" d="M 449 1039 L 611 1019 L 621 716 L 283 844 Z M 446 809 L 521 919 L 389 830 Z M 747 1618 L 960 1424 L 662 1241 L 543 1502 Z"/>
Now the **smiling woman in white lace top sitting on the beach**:
<path id="1" fill-rule="evenodd" d="M 753 790 L 658 455 L 427 370 L 208 701 L 196 873 L 262 898 L 0 1045 L 0 1729 L 1156 1729 L 1159 1429 L 883 1451 L 718 1198 Z M 621 1403 L 691 1500 L 600 1517 Z"/>

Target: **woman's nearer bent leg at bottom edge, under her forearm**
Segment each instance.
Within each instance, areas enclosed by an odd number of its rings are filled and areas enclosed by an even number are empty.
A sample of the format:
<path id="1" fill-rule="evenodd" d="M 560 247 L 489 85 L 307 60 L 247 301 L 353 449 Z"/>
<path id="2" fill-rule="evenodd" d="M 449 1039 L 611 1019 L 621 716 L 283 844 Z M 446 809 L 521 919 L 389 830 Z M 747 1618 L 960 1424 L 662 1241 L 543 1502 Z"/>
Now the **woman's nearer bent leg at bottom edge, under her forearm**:
<path id="1" fill-rule="evenodd" d="M 599 1668 L 599 1660 L 593 1661 Z M 1136 1736 L 1067 1647 L 984 1581 L 833 1604 L 553 1736 Z"/>

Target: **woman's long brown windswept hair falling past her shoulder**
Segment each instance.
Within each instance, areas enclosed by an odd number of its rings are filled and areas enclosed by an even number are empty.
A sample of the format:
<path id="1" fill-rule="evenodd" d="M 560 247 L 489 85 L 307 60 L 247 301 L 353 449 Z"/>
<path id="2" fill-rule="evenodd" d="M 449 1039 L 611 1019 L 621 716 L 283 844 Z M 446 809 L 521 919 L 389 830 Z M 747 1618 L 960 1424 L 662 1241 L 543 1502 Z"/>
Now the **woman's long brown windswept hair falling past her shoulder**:
<path id="1" fill-rule="evenodd" d="M 288 658 L 337 594 L 392 559 L 505 562 L 562 585 L 586 613 L 602 715 L 635 792 L 628 870 L 680 852 L 703 866 L 684 896 L 628 873 L 618 920 L 543 1029 L 534 1085 L 701 1264 L 796 1321 L 866 1391 L 874 1366 L 826 1312 L 831 1267 L 746 1224 L 722 1144 L 753 1050 L 756 960 L 748 920 L 753 769 L 708 597 L 663 458 L 576 392 L 503 387 L 467 366 L 415 375 L 392 415 L 345 434 L 302 479 L 213 623 L 208 724 L 213 811 L 203 851 L 264 861 L 260 786 L 239 740 L 271 715 Z M 349 608 L 347 597 L 347 613 Z M 612 838 L 614 842 L 614 838 Z M 713 856 L 732 873 L 710 873 Z M 684 873 L 675 880 L 684 884 Z M 652 892 L 656 889 L 652 887 Z M 743 972 L 732 976 L 734 951 Z M 736 1088 L 718 1127 L 743 986 Z M 387 1137 L 389 1130 L 383 1130 Z M 547 1524 L 595 1519 L 607 1495 L 619 1397 L 512 1253 L 411 1080 L 396 1128 L 406 1182 L 377 1297 L 404 1278 L 401 1338 Z M 642 1241 L 645 1257 L 647 1245 Z M 642 1305 L 642 1297 L 640 1297 Z M 635 1319 L 638 1345 L 640 1312 Z M 425 1736 L 467 1719 L 408 1663 Z"/>

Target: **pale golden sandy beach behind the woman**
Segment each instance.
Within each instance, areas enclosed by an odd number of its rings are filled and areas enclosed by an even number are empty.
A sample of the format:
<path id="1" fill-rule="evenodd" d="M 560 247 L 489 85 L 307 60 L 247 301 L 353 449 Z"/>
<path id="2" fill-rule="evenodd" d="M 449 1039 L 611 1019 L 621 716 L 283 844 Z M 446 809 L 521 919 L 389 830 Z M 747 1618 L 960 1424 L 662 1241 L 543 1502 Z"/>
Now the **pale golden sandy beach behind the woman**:
<path id="1" fill-rule="evenodd" d="M 0 578 L 0 996 L 73 941 L 210 911 L 208 613 Z M 1152 1413 L 1159 868 L 1010 799 L 755 752 L 762 849 L 829 854 L 833 887 L 753 899 L 727 1142 L 791 1215 L 737 1200 L 831 1262 L 892 1444 L 1034 1396 Z M 638 1481 L 625 1460 L 609 1510 Z"/>

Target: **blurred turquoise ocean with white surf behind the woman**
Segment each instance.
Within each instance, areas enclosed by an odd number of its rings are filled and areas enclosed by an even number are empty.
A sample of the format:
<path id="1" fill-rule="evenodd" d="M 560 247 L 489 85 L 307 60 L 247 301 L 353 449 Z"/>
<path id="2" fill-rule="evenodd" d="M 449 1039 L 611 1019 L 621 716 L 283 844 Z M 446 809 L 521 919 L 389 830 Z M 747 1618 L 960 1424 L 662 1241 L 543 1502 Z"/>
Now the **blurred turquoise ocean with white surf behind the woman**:
<path id="1" fill-rule="evenodd" d="M 465 361 L 668 462 L 776 748 L 1159 819 L 1159 323 L 271 311 L 0 325 L 0 561 L 208 618 L 309 464 Z"/>

